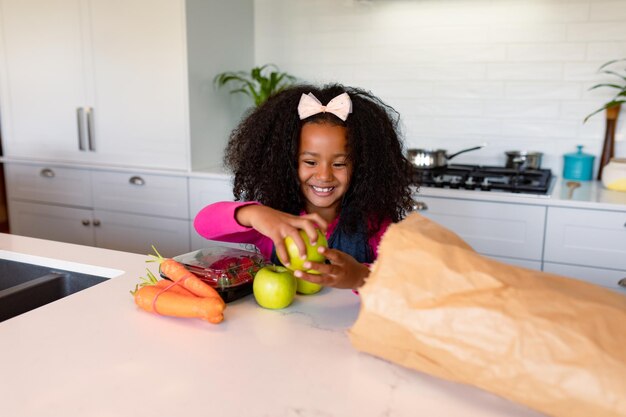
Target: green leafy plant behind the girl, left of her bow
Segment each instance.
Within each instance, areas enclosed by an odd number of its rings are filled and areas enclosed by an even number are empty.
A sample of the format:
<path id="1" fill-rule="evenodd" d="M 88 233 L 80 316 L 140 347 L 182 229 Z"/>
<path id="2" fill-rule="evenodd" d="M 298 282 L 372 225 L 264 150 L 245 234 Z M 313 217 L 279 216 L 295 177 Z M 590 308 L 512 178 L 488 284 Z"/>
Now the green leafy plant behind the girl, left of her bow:
<path id="1" fill-rule="evenodd" d="M 226 84 L 234 85 L 231 94 L 241 93 L 251 97 L 255 106 L 260 106 L 272 94 L 293 85 L 296 77 L 280 69 L 274 64 L 254 67 L 250 71 L 226 71 L 217 74 L 213 79 L 219 88 Z"/>

